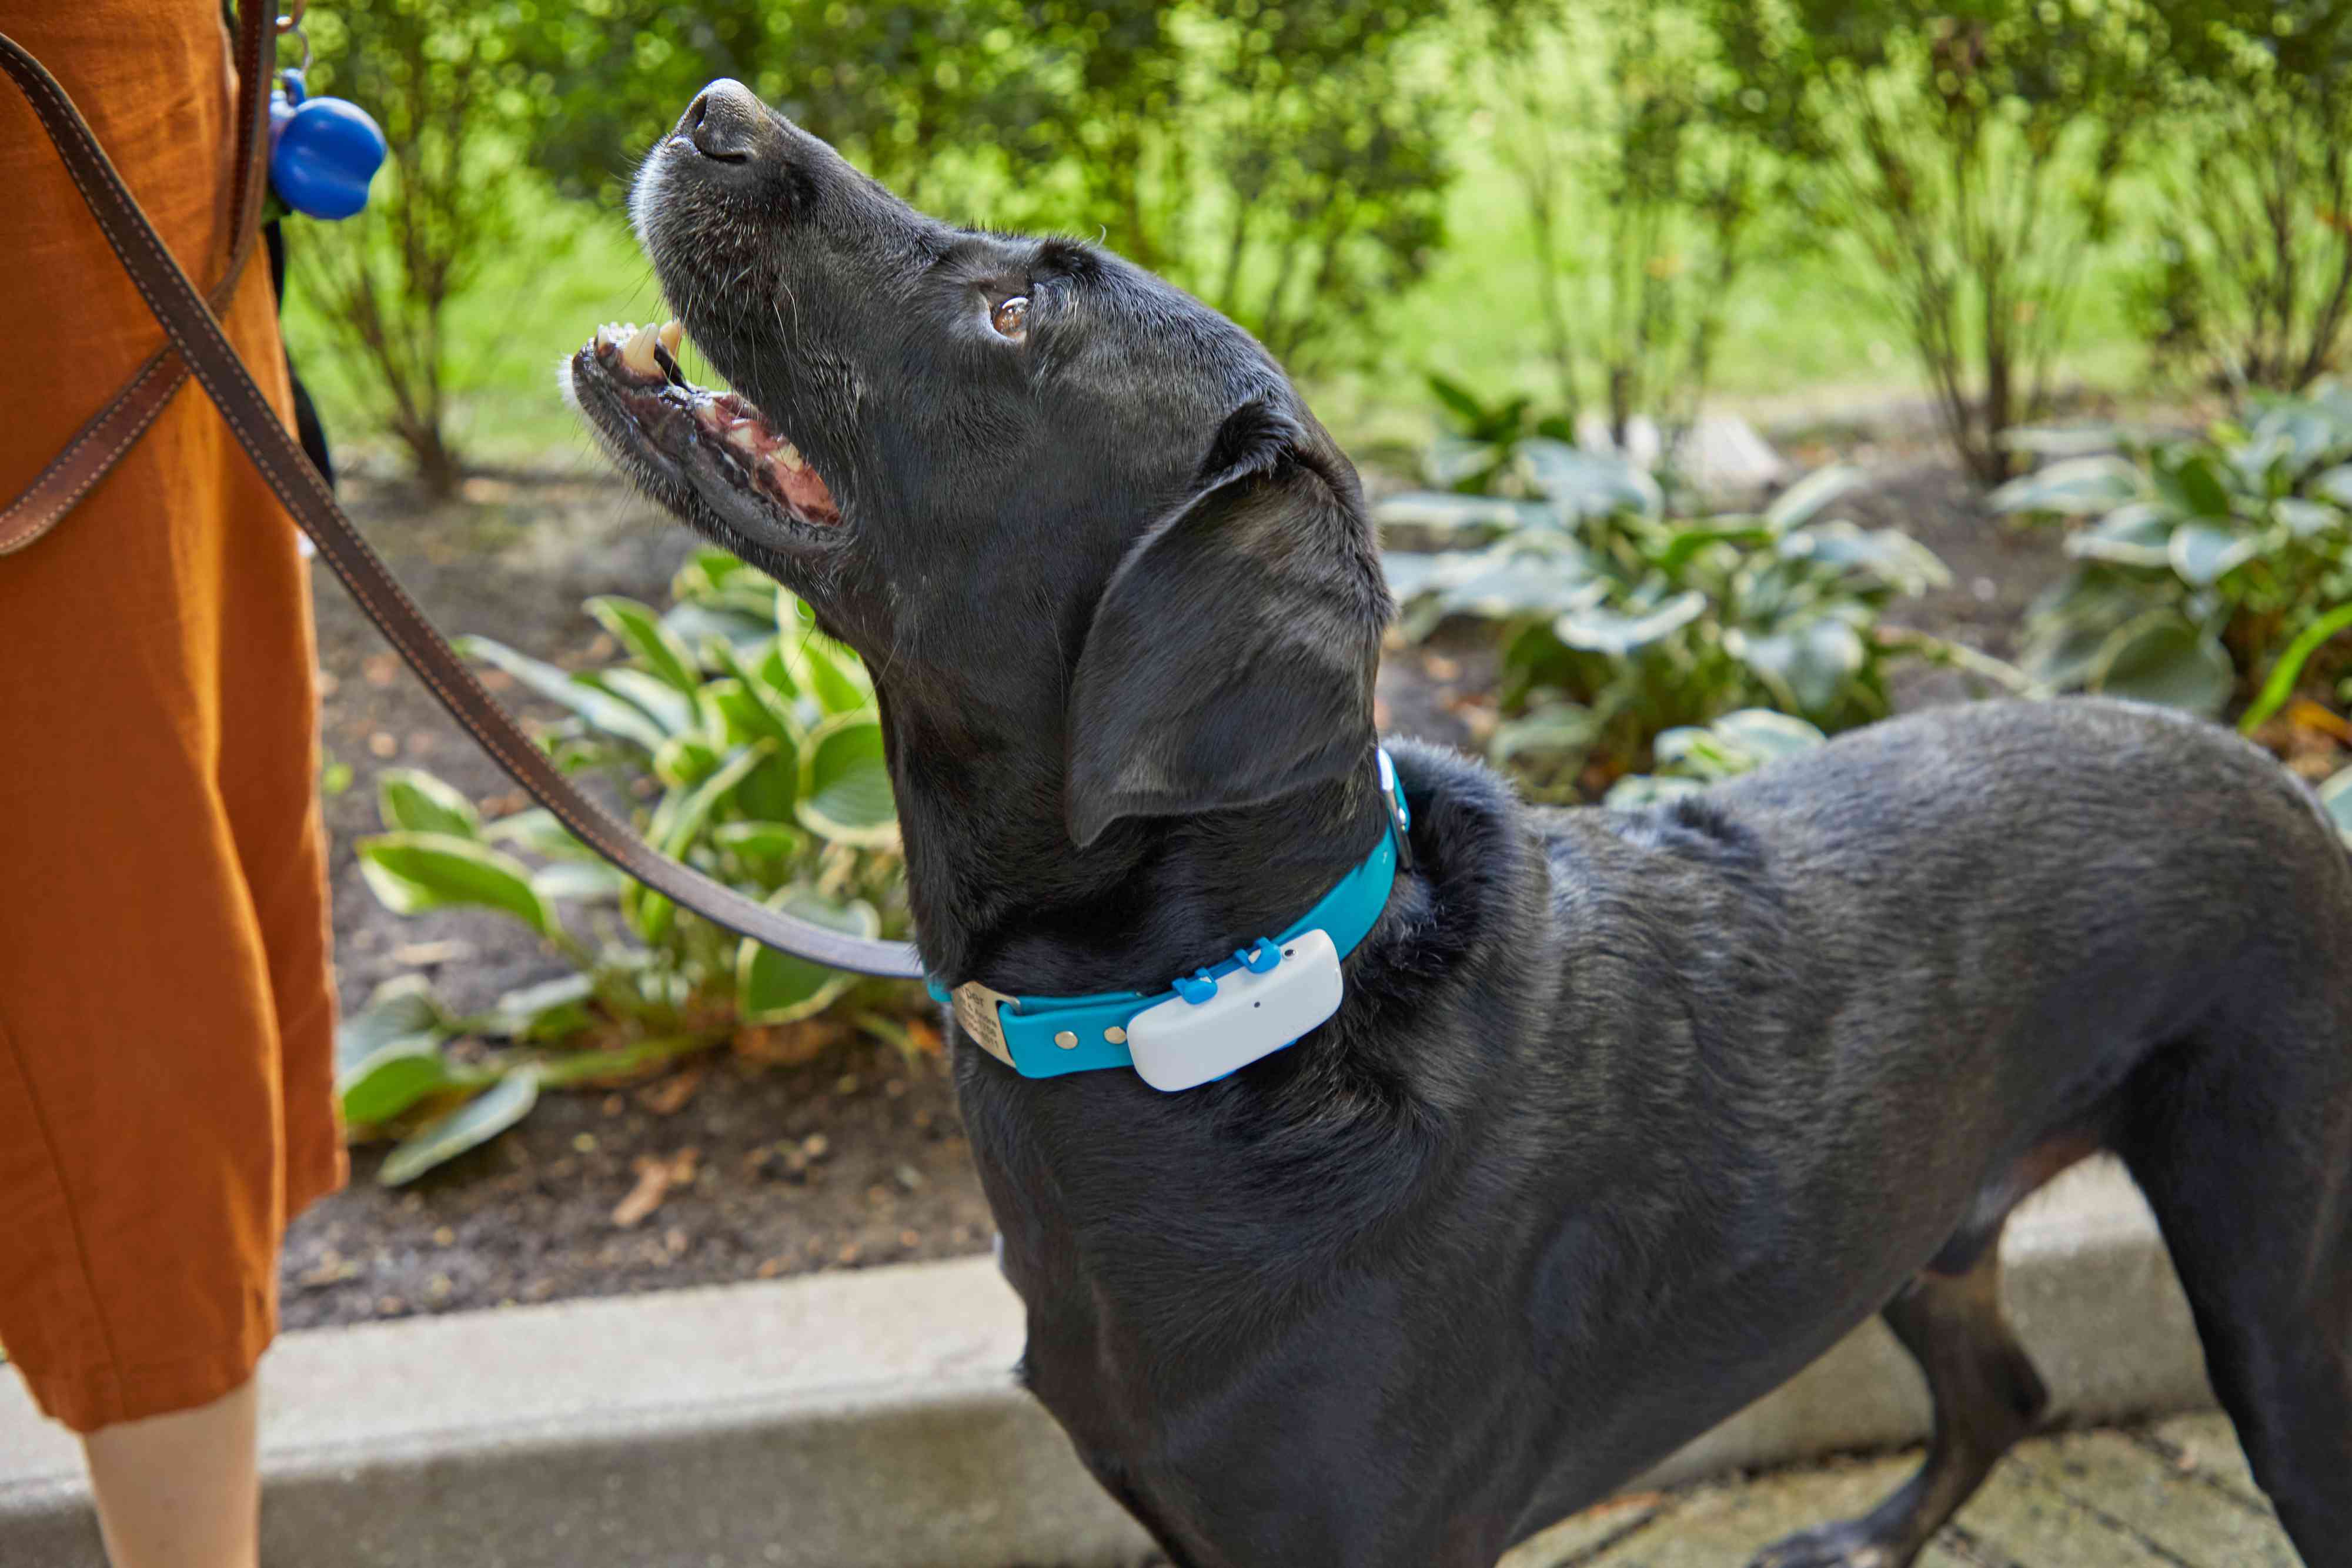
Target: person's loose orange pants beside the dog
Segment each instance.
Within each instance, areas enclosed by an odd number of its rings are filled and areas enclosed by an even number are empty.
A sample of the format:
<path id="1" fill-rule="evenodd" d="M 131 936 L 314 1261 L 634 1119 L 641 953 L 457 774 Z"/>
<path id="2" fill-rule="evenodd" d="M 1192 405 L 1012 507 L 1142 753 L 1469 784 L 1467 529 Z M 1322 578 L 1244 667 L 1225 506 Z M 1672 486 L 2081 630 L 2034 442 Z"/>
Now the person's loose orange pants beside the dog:
<path id="1" fill-rule="evenodd" d="M 247 0 L 252 2 L 252 0 Z M 0 0 L 179 263 L 230 249 L 219 0 Z M 0 498 L 162 343 L 0 82 Z M 228 336 L 289 407 L 268 259 Z M 343 1180 L 308 574 L 186 383 L 0 555 L 0 1345 L 89 1432 L 245 1382 L 285 1222 Z"/>

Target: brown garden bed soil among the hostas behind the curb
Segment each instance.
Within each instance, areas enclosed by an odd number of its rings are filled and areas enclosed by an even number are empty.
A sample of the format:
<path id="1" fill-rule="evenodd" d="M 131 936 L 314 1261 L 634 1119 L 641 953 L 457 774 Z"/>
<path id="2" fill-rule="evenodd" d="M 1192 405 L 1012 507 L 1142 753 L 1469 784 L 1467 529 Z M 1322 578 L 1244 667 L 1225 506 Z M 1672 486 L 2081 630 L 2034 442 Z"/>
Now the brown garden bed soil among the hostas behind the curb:
<path id="1" fill-rule="evenodd" d="M 1811 465 L 1823 454 L 1795 456 Z M 1931 456 L 1882 449 L 1867 461 L 1884 477 L 1851 501 L 1856 520 L 1900 522 L 1955 576 L 1898 618 L 2011 654 L 2020 609 L 2063 571 L 2053 541 L 1990 524 L 1971 487 Z M 581 599 L 623 592 L 661 604 L 691 548 L 586 456 L 574 473 L 468 480 L 442 505 L 400 482 L 355 477 L 346 505 L 445 632 L 487 632 L 564 665 L 614 651 Z M 456 1009 L 560 973 L 513 922 L 402 919 L 367 891 L 353 842 L 379 830 L 383 769 L 440 773 L 487 811 L 522 797 L 322 567 L 315 592 L 325 743 L 353 771 L 327 799 L 343 1006 L 412 971 Z M 1392 646 L 1381 724 L 1470 748 L 1491 726 L 1491 677 L 1494 654 L 1477 637 Z M 513 689 L 501 696 L 515 701 Z M 1952 675 L 1922 672 L 1898 696 L 1912 708 L 1966 691 Z M 800 1067 L 713 1058 L 628 1091 L 548 1093 L 520 1128 L 407 1190 L 376 1185 L 383 1147 L 353 1150 L 350 1187 L 294 1222 L 287 1326 L 946 1258 L 993 1237 L 946 1065 L 863 1039 Z M 647 1185 L 661 1199 L 630 1220 L 623 1199 Z"/>

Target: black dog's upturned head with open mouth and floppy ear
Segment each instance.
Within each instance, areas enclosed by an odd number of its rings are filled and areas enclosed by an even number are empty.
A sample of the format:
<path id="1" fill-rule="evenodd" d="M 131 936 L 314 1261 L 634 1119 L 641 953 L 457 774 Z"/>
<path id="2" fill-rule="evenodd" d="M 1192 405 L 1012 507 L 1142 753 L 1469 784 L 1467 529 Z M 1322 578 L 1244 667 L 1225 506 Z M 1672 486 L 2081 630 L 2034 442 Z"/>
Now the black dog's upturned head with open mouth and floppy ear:
<path id="1" fill-rule="evenodd" d="M 572 400 L 866 658 L 894 729 L 1051 757 L 1002 783 L 1058 790 L 1080 844 L 1364 764 L 1362 491 L 1247 331 L 1091 244 L 929 219 L 739 82 L 630 207 L 734 390 L 691 386 L 668 327 L 609 329 Z"/>

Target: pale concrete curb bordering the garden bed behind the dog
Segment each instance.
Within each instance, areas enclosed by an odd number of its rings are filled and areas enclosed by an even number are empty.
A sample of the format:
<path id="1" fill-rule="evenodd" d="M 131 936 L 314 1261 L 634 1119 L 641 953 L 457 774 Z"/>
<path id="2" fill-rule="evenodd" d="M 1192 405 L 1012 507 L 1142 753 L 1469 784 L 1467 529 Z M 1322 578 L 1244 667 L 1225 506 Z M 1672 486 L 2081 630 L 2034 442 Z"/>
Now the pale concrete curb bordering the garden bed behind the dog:
<path id="1" fill-rule="evenodd" d="M 2004 1237 L 2070 1422 L 2211 1403 L 2187 1305 L 2114 1168 Z M 306 1568 L 1007 1568 L 1145 1542 L 1011 1385 L 985 1258 L 287 1335 L 263 1373 L 268 1561 Z M 1877 1324 L 1642 1486 L 1917 1441 Z M 73 1443 L 0 1380 L 0 1563 L 85 1568 Z M 2042 1568 L 2032 1563 L 2027 1568 Z"/>

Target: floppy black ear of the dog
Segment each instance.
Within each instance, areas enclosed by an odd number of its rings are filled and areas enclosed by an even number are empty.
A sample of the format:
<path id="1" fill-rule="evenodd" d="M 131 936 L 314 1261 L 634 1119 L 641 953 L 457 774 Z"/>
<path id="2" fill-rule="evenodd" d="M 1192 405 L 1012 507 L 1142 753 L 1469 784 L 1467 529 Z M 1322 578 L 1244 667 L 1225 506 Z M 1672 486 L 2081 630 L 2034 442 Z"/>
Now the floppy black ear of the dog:
<path id="1" fill-rule="evenodd" d="M 1094 611 L 1070 686 L 1070 837 L 1359 766 L 1388 611 L 1355 470 L 1322 428 L 1244 404 Z"/>

